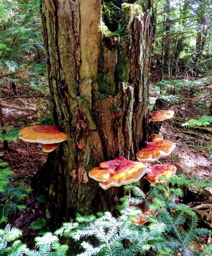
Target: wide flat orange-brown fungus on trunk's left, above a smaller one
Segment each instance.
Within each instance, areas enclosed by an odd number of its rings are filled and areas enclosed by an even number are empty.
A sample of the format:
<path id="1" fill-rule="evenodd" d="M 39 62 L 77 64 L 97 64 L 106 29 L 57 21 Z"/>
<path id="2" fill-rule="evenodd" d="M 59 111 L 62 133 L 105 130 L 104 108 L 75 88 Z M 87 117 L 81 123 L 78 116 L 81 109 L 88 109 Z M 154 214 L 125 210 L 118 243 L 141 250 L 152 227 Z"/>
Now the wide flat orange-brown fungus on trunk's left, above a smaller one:
<path id="1" fill-rule="evenodd" d="M 67 136 L 56 125 L 34 125 L 20 130 L 19 138 L 26 142 L 54 144 L 63 142 Z"/>

